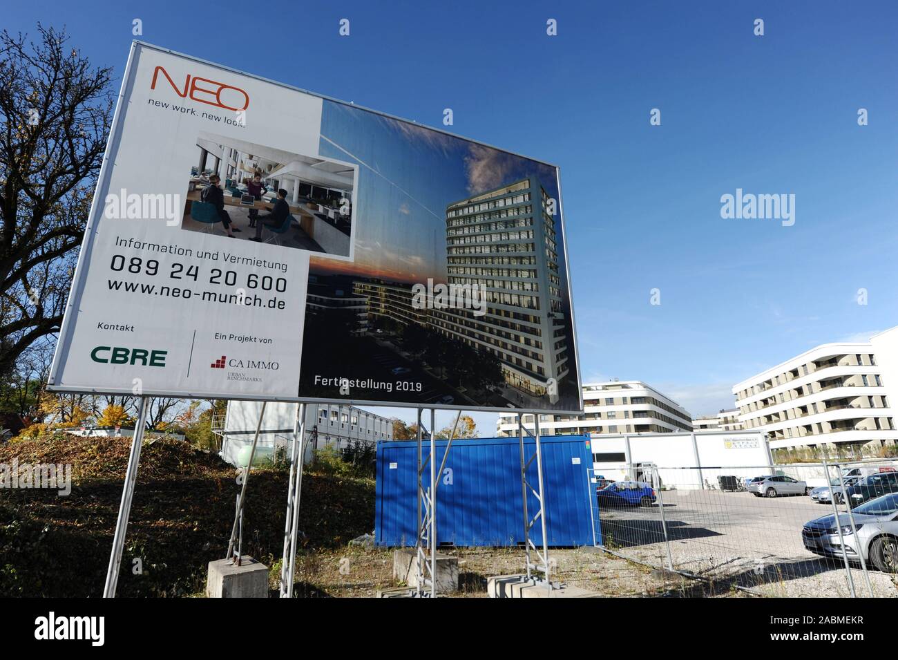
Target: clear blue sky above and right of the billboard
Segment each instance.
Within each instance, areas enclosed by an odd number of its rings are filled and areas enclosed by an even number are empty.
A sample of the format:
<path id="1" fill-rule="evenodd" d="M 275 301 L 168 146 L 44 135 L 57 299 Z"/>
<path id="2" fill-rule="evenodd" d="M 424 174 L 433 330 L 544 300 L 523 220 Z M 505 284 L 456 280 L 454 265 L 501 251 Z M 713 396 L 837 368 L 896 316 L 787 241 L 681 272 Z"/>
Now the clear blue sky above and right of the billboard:
<path id="1" fill-rule="evenodd" d="M 151 43 L 422 124 L 452 108 L 453 132 L 559 164 L 585 380 L 643 380 L 713 413 L 747 376 L 898 324 L 894 2 L 4 9 L 10 31 L 66 25 L 117 75 L 134 18 Z M 721 219 L 736 188 L 795 194 L 795 225 Z"/>

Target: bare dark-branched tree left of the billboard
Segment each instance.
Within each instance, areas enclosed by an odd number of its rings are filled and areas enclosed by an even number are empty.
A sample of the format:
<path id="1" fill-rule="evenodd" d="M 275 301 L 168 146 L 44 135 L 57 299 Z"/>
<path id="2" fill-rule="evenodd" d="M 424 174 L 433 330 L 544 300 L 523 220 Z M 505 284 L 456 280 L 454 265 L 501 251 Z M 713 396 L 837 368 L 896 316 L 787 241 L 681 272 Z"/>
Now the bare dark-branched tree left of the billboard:
<path id="1" fill-rule="evenodd" d="M 0 374 L 57 332 L 109 133 L 110 68 L 0 33 Z"/>

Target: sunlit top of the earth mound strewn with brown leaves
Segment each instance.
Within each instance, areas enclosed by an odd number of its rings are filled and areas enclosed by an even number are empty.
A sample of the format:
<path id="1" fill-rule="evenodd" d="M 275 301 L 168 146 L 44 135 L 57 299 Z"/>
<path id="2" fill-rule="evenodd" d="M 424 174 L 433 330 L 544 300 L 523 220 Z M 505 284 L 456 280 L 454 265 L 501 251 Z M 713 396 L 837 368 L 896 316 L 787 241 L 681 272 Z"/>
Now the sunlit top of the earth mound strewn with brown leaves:
<path id="1" fill-rule="evenodd" d="M 75 479 L 125 479 L 129 437 L 78 437 L 58 434 L 36 440 L 0 445 L 0 462 L 71 463 Z M 139 478 L 166 479 L 233 470 L 216 454 L 204 452 L 172 438 L 145 439 L 140 454 Z"/>

